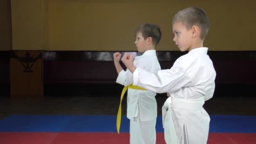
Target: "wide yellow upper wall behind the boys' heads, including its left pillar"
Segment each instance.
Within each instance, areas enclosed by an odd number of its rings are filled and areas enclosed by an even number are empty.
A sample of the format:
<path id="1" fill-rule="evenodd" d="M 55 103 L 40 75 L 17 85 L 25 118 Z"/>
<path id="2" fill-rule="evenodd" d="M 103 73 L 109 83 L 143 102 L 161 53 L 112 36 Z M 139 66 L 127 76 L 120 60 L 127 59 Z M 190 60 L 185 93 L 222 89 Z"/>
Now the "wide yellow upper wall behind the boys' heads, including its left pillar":
<path id="1" fill-rule="evenodd" d="M 37 7 L 23 4 L 21 11 L 12 6 L 16 12 L 16 18 L 12 18 L 16 50 L 136 51 L 134 30 L 140 24 L 154 23 L 163 33 L 157 50 L 178 51 L 172 41 L 171 20 L 177 11 L 189 6 L 203 8 L 208 14 L 210 29 L 204 46 L 210 51 L 256 50 L 253 0 L 25 1 Z M 21 19 L 18 12 L 32 19 Z M 29 26 L 25 25 L 27 21 Z"/>

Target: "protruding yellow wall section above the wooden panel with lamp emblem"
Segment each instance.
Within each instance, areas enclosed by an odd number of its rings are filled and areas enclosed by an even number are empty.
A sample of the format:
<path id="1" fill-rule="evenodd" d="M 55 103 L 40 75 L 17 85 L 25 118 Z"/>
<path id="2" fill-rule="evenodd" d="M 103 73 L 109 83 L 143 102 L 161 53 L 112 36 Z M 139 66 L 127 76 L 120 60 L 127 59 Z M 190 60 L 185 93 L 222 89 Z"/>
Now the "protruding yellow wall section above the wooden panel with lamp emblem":
<path id="1" fill-rule="evenodd" d="M 47 0 L 11 0 L 13 50 L 45 49 L 46 5 Z"/>

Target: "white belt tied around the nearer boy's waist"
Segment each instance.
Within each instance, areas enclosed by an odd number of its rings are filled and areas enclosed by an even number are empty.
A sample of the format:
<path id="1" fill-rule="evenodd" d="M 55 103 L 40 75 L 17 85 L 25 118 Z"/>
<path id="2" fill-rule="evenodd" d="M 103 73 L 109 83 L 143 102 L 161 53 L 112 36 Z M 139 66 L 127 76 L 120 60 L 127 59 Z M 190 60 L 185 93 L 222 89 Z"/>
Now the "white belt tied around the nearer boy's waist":
<path id="1" fill-rule="evenodd" d="M 169 97 L 166 99 L 163 107 L 162 107 L 162 118 L 163 118 L 163 128 L 164 128 L 164 121 L 165 121 L 165 115 L 168 109 L 168 112 L 170 112 L 169 117 L 169 131 L 170 131 L 170 144 L 177 144 L 176 140 L 176 132 L 173 125 L 173 118 L 171 115 L 171 108 L 179 108 L 179 109 L 190 109 L 190 110 L 200 110 L 203 108 L 203 104 L 205 103 L 203 97 L 199 99 L 174 99 Z"/>

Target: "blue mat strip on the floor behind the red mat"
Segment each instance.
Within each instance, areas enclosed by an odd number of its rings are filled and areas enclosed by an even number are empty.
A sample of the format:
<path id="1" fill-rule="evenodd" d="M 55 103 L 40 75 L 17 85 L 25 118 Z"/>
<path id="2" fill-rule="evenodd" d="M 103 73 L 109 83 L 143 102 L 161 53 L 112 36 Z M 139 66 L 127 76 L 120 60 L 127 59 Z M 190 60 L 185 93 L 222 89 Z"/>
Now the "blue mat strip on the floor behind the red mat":
<path id="1" fill-rule="evenodd" d="M 210 115 L 210 133 L 256 133 L 256 116 Z M 157 132 L 163 132 L 157 117 Z M 115 115 L 10 115 L 0 120 L 0 132 L 116 132 Z M 122 116 L 120 132 L 129 132 Z"/>

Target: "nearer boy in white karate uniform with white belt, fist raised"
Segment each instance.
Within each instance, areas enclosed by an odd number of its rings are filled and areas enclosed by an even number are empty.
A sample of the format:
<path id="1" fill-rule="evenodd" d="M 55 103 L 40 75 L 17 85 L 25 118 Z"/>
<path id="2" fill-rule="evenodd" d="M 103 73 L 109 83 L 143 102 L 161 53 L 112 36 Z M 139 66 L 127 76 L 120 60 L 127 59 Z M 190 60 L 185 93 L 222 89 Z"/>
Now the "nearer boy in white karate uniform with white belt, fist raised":
<path id="1" fill-rule="evenodd" d="M 127 53 L 122 61 L 133 73 L 133 85 L 170 96 L 162 109 L 167 144 L 206 144 L 210 117 L 203 104 L 213 96 L 216 77 L 208 48 L 203 47 L 209 20 L 200 8 L 189 7 L 176 13 L 172 23 L 173 41 L 180 51 L 189 53 L 179 57 L 171 69 L 155 75 L 134 67 Z"/>

